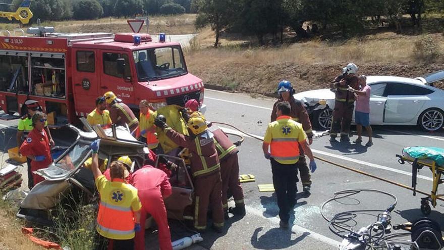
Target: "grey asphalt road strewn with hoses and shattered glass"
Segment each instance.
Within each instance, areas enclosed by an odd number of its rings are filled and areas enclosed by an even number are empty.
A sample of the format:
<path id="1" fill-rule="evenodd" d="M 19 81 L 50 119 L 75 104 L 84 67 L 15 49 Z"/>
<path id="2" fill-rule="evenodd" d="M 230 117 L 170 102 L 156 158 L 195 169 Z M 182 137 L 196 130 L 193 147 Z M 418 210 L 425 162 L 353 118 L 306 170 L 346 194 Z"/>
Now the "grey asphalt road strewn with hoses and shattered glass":
<path id="1" fill-rule="evenodd" d="M 263 136 L 273 102 L 274 100 L 269 98 L 257 99 L 244 94 L 206 89 L 207 112 L 205 116 L 208 121 L 229 123 L 250 134 Z M 3 127 L 14 126 L 16 121 L 0 121 L 0 124 L 3 124 Z M 4 128 L 3 131 L 5 140 L 3 140 L 2 148 L 5 148 L 5 142 L 13 146 L 14 138 L 6 140 L 15 133 L 14 128 Z M 233 129 L 226 129 L 226 131 L 235 132 Z M 0 138 L 0 141 L 3 138 Z M 354 138 L 356 136 L 351 138 L 351 141 Z M 331 144 L 328 139 L 328 136 L 314 139 L 311 148 L 315 156 L 405 185 L 411 184 L 411 166 L 400 165 L 395 157 L 396 154 L 400 154 L 406 146 L 444 147 L 444 133 L 424 133 L 414 127 L 402 126 L 375 127 L 374 144 L 371 147 L 343 142 Z M 328 229 L 328 223 L 320 215 L 320 207 L 327 199 L 333 197 L 336 191 L 344 189 L 378 189 L 396 195 L 398 204 L 392 214 L 393 224 L 414 221 L 423 217 L 419 209 L 420 197 L 423 195 L 413 196 L 409 190 L 316 160 L 318 169 L 312 174 L 311 195 L 299 193 L 298 204 L 291 216 L 291 230 L 280 229 L 275 194 L 259 192 L 257 188 L 257 184 L 272 183 L 271 168 L 269 162 L 263 157 L 261 143 L 257 139 L 245 136 L 244 143 L 239 147 L 240 173 L 253 174 L 256 177 L 256 182 L 242 185 L 247 215 L 244 218 L 230 218 L 226 222 L 224 233 L 217 234 L 209 230 L 203 234 L 204 241 L 193 245 L 190 249 L 338 249 L 337 246 L 342 238 Z M 298 189 L 301 190 L 302 186 L 298 184 Z M 431 173 L 424 168 L 419 172 L 417 188 L 429 192 L 431 185 Z M 329 204 L 325 207 L 325 213 L 331 217 L 347 210 L 384 210 L 391 204 L 392 199 L 388 196 L 360 193 L 353 198 Z M 444 226 L 442 204 L 438 201 L 436 208 L 432 208 L 430 218 Z M 230 205 L 234 206 L 234 203 L 231 201 Z M 375 221 L 376 218 L 373 216 L 360 216 L 356 218 L 354 229 Z M 170 223 L 173 240 L 193 234 L 179 222 L 171 221 Z M 150 248 L 156 246 L 156 232 L 148 234 L 147 237 L 149 239 L 147 246 Z"/>

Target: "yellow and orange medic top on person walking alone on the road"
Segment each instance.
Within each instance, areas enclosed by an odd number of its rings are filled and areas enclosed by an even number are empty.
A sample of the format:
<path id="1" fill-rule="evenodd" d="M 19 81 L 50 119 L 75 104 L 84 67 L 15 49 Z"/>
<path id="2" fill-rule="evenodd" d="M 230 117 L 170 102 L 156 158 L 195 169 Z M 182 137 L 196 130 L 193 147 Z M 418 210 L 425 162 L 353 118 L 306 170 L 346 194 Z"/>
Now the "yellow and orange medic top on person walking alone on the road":
<path id="1" fill-rule="evenodd" d="M 281 164 L 295 164 L 299 160 L 299 142 L 306 135 L 302 124 L 290 116 L 280 116 L 268 124 L 264 142 L 270 145 L 271 157 Z"/>

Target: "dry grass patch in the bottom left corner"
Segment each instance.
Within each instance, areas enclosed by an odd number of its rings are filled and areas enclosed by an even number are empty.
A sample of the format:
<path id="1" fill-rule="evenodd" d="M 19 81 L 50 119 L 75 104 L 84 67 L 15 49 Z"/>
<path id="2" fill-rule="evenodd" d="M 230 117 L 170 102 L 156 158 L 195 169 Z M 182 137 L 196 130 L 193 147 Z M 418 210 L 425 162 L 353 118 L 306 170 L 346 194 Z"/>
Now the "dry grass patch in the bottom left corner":
<path id="1" fill-rule="evenodd" d="M 14 205 L 8 204 L 0 199 L 0 249 L 14 250 L 14 249 L 30 249 L 40 250 L 44 249 L 21 233 L 22 221 L 15 219 L 17 209 Z"/>

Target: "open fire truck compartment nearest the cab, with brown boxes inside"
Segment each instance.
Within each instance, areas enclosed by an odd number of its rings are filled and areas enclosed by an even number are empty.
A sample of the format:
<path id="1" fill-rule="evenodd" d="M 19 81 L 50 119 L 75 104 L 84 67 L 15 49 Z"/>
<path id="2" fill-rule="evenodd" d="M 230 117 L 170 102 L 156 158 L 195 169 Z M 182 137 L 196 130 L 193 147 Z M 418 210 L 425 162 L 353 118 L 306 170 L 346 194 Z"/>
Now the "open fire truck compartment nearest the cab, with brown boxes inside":
<path id="1" fill-rule="evenodd" d="M 32 52 L 30 56 L 32 94 L 65 99 L 65 55 Z"/>

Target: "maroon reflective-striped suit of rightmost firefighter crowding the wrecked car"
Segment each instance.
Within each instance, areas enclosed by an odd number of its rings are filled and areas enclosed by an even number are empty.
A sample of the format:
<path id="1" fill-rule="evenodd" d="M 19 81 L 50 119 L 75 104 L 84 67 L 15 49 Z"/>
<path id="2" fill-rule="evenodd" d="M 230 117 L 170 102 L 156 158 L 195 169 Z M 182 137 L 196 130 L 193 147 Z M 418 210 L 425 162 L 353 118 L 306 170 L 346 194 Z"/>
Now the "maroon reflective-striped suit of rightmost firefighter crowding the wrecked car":
<path id="1" fill-rule="evenodd" d="M 217 155 L 220 162 L 220 177 L 222 179 L 222 205 L 228 210 L 227 191 L 233 193 L 236 205 L 244 204 L 244 192 L 239 182 L 239 149 L 233 144 L 227 134 L 220 128 L 211 130 L 216 142 Z"/>

